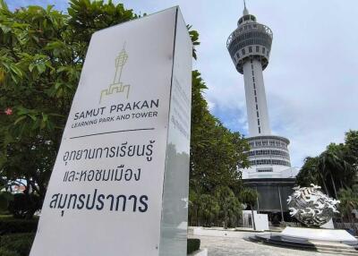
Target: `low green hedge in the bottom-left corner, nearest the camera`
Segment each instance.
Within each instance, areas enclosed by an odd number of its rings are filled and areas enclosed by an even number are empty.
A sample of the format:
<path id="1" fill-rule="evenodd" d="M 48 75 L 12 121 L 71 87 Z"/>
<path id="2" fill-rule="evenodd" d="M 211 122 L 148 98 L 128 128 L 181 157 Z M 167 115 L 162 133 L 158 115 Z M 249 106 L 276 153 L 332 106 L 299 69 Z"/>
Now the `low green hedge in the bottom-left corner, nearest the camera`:
<path id="1" fill-rule="evenodd" d="M 0 248 L 4 252 L 4 254 L 0 253 L 0 255 L 28 256 L 30 254 L 31 245 L 34 238 L 35 238 L 35 233 L 12 234 L 12 235 L 0 236 Z"/>

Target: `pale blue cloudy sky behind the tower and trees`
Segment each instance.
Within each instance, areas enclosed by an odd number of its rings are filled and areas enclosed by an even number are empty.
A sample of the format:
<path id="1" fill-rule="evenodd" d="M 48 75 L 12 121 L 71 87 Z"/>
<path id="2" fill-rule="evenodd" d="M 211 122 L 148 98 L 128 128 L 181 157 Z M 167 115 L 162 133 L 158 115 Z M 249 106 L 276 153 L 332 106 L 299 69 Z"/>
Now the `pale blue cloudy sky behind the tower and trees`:
<path id="1" fill-rule="evenodd" d="M 119 2 L 119 1 L 114 1 Z M 7 0 L 11 8 L 67 1 Z M 268 25 L 274 39 L 264 81 L 274 134 L 291 141 L 293 166 L 320 154 L 329 142 L 358 130 L 358 1 L 247 0 L 249 12 Z M 135 13 L 155 13 L 179 5 L 200 33 L 198 69 L 209 90 L 212 114 L 232 131 L 248 134 L 243 76 L 226 50 L 226 38 L 243 14 L 242 1 L 128 0 Z"/>

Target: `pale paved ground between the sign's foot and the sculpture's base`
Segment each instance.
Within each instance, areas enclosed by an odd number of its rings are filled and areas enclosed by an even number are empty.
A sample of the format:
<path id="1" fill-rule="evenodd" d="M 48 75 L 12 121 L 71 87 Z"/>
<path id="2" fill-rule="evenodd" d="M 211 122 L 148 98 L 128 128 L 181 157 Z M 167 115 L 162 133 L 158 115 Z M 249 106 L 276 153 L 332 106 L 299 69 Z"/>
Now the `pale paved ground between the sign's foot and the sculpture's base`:
<path id="1" fill-rule="evenodd" d="M 243 237 L 215 237 L 191 235 L 200 238 L 201 248 L 208 248 L 209 256 L 332 256 L 331 253 L 309 252 L 286 249 L 243 240 L 251 233 L 243 232 Z"/>

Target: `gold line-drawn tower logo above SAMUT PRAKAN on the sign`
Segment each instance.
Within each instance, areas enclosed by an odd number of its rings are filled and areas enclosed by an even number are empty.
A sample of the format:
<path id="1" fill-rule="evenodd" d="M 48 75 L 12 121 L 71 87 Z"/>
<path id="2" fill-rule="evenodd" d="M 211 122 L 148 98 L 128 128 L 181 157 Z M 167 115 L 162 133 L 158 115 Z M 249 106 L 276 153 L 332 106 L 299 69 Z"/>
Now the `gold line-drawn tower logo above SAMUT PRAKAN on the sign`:
<path id="1" fill-rule="evenodd" d="M 127 60 L 128 60 L 128 54 L 125 51 L 125 43 L 124 43 L 124 47 L 122 51 L 115 58 L 115 77 L 113 79 L 113 82 L 109 85 L 107 89 L 101 90 L 99 104 L 102 103 L 103 98 L 114 93 L 123 92 L 125 97 L 128 98 L 131 85 L 124 84 L 124 82 L 121 81 L 122 71 L 124 69 L 124 65 L 127 62 Z"/>

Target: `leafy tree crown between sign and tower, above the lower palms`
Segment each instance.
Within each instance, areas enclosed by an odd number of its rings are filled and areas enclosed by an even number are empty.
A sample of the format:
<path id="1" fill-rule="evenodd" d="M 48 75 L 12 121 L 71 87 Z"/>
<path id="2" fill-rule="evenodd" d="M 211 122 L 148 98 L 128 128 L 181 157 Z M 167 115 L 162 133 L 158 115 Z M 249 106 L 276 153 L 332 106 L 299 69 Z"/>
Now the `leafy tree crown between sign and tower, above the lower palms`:
<path id="1" fill-rule="evenodd" d="M 191 189 L 212 192 L 217 186 L 232 187 L 241 178 L 237 166 L 248 166 L 249 145 L 209 113 L 202 97 L 207 89 L 200 73 L 192 73 Z"/>

